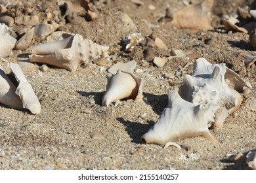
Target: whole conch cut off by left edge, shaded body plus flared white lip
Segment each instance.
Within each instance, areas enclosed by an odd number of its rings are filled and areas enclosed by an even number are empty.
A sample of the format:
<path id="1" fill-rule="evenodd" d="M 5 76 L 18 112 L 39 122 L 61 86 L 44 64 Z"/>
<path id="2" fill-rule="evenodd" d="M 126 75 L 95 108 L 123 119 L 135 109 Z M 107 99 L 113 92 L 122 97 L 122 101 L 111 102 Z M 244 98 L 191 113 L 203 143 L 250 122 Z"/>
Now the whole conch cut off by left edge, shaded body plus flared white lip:
<path id="1" fill-rule="evenodd" d="M 39 114 L 41 105 L 22 69 L 16 63 L 9 63 L 9 67 L 18 81 L 18 87 L 14 86 L 0 65 L 0 103 L 18 110 L 27 108 L 32 114 Z"/>

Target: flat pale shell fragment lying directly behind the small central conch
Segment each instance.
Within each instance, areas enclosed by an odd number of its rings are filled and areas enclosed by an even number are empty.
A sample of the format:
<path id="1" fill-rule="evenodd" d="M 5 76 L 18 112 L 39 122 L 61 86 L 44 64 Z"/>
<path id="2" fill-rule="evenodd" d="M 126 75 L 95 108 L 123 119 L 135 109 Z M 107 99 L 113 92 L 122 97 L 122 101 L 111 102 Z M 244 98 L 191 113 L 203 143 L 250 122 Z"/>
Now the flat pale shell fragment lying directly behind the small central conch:
<path id="1" fill-rule="evenodd" d="M 126 73 L 133 73 L 133 70 L 135 69 L 137 65 L 137 62 L 133 59 L 127 63 L 118 62 L 110 69 L 108 69 L 108 73 L 111 73 L 112 75 L 116 75 L 118 70 L 124 71 Z"/>

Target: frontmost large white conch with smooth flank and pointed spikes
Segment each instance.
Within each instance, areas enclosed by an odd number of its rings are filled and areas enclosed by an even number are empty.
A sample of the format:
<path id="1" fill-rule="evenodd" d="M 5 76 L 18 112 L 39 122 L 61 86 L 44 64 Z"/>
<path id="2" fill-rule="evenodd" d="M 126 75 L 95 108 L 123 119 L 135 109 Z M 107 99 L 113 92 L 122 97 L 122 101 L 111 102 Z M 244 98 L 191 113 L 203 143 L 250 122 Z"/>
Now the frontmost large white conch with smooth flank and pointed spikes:
<path id="1" fill-rule="evenodd" d="M 217 106 L 194 105 L 182 99 L 176 90 L 168 92 L 168 106 L 158 121 L 141 138 L 147 143 L 164 145 L 169 141 L 186 137 L 203 136 L 217 141 L 208 126 L 214 121 Z"/>

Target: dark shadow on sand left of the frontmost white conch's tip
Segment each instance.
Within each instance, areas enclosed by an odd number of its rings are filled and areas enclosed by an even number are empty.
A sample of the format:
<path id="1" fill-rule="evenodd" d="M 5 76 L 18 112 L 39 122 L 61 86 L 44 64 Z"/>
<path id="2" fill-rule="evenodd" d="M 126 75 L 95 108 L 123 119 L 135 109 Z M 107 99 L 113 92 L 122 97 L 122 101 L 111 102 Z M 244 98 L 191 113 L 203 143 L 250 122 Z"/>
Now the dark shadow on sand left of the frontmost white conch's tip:
<path id="1" fill-rule="evenodd" d="M 134 142 L 136 144 L 144 144 L 145 142 L 140 139 L 142 135 L 144 135 L 148 129 L 152 125 L 155 124 L 153 121 L 147 121 L 148 124 L 140 124 L 138 122 L 131 122 L 129 120 L 125 120 L 123 118 L 116 118 L 117 121 L 119 121 L 121 124 L 126 126 L 126 131 L 128 135 L 133 139 L 131 142 Z"/>

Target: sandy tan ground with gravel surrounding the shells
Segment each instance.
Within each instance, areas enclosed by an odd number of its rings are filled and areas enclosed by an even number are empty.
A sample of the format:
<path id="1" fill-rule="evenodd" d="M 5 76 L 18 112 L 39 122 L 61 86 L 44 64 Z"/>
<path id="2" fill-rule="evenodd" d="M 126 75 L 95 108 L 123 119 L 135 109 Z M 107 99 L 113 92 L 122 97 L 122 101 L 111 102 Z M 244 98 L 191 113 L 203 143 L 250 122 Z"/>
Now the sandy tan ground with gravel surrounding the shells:
<path id="1" fill-rule="evenodd" d="M 47 12 L 60 12 L 56 1 L 22 2 L 8 9 L 21 16 L 28 14 L 30 8 L 39 18 Z M 215 4 L 214 28 L 193 34 L 177 29 L 168 18 L 160 20 L 165 16 L 167 5 L 179 9 L 185 7 L 184 3 L 171 0 L 142 2 L 143 5 L 121 0 L 107 4 L 95 1 L 96 20 L 83 20 L 81 24 L 64 20 L 66 24 L 58 30 L 79 33 L 86 39 L 110 46 L 110 54 L 118 56 L 114 63 L 135 59 L 135 75 L 143 80 L 146 103 L 128 100 L 120 101 L 117 106 L 112 103 L 102 107 L 108 66 L 89 62 L 76 72 L 52 66 L 44 72 L 24 71 L 35 93 L 43 92 L 42 110 L 33 115 L 0 106 L 0 169 L 250 169 L 246 163 L 234 163 L 229 158 L 256 148 L 255 65 L 246 68 L 237 58 L 240 52 L 252 55 L 255 52 L 249 45 L 249 35 L 226 31 L 219 17 L 236 12 L 238 5 L 253 7 L 254 2 L 221 1 Z M 149 5 L 155 9 L 150 10 Z M 234 7 L 233 12 L 230 6 Z M 120 18 L 121 12 L 129 15 L 134 24 Z M 145 22 L 158 26 L 151 29 Z M 25 25 L 14 24 L 12 35 L 18 37 L 26 29 Z M 190 67 L 182 74 L 185 63 L 180 59 L 156 67 L 152 59 L 146 58 L 143 46 L 123 52 L 121 39 L 131 31 L 142 33 L 143 37 L 154 32 L 168 48 L 199 54 L 211 63 L 224 62 L 251 83 L 253 90 L 249 98 L 234 115 L 226 118 L 223 128 L 210 130 L 218 142 L 203 137 L 182 139 L 176 142 L 186 148 L 178 150 L 140 140 L 167 106 L 168 88 L 180 86 L 183 74 L 192 73 L 195 59 L 189 59 Z M 13 50 L 6 59 L 17 62 L 21 54 L 30 54 L 32 46 L 39 42 L 45 40 L 33 41 L 24 51 Z M 164 54 L 160 49 L 154 50 L 155 56 Z M 4 61 L 1 65 L 7 68 Z M 175 76 L 175 86 L 169 86 L 165 73 Z"/>

